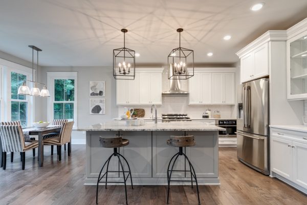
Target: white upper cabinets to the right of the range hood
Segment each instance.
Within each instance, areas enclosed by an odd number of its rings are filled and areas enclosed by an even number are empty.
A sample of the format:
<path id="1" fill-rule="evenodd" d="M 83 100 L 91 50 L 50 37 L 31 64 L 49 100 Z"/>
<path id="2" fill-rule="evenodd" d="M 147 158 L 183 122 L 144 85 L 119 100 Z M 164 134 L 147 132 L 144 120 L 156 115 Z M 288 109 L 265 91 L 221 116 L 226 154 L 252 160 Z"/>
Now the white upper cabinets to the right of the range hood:
<path id="1" fill-rule="evenodd" d="M 232 72 L 221 72 L 230 69 Z M 234 72 L 232 68 L 196 71 L 189 78 L 189 105 L 235 104 Z"/>

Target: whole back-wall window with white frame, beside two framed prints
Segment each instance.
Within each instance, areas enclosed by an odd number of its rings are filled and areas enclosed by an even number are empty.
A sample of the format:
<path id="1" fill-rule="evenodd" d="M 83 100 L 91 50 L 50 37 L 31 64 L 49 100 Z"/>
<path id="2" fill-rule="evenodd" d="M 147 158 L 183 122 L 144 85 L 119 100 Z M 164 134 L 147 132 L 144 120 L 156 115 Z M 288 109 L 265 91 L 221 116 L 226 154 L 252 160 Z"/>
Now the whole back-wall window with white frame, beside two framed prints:
<path id="1" fill-rule="evenodd" d="M 47 72 L 48 120 L 68 119 L 77 127 L 77 72 Z"/>

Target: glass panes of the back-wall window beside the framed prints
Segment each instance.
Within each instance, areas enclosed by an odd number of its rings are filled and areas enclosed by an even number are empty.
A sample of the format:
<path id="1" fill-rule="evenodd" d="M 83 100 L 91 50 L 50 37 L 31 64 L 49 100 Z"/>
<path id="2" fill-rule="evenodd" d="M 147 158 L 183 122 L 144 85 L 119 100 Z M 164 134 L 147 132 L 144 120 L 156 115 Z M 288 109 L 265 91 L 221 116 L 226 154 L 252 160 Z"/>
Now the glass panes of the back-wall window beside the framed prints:
<path id="1" fill-rule="evenodd" d="M 54 119 L 74 120 L 74 79 L 54 79 Z"/>

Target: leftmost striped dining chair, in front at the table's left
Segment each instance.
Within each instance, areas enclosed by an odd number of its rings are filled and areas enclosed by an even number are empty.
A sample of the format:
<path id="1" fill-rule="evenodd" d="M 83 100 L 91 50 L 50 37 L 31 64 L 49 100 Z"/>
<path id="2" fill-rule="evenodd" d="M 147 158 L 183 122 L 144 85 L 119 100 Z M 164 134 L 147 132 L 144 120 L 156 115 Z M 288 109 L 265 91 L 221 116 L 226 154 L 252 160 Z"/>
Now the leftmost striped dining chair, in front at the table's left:
<path id="1" fill-rule="evenodd" d="M 20 125 L 0 125 L 2 142 L 3 169 L 6 169 L 6 153 L 20 152 L 25 169 L 25 152 L 38 147 L 38 141 L 25 141 L 23 129 Z"/>

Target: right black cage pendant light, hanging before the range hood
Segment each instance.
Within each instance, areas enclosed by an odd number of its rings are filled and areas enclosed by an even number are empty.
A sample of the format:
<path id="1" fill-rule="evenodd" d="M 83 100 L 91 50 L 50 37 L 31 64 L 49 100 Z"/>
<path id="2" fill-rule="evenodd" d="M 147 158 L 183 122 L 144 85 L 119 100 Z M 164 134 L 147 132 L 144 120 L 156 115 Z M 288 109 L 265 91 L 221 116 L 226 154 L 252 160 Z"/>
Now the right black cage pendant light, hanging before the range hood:
<path id="1" fill-rule="evenodd" d="M 181 47 L 182 28 L 179 32 L 179 47 L 171 50 L 167 57 L 168 79 L 188 79 L 194 76 L 194 51 Z"/>

